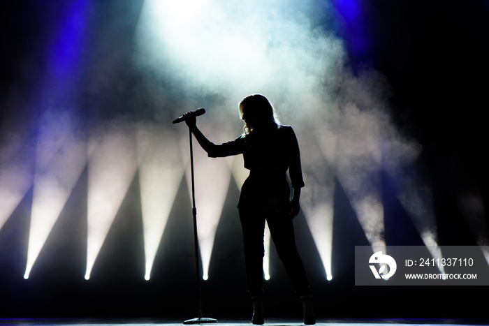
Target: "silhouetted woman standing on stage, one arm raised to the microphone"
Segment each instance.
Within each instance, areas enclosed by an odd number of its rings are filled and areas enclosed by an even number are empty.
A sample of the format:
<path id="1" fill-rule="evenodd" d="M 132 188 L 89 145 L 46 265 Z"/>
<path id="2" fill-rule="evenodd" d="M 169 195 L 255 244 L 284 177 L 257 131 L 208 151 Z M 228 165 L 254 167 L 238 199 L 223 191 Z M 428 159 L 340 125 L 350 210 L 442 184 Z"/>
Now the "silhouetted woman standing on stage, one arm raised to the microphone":
<path id="1" fill-rule="evenodd" d="M 299 213 L 300 188 L 304 186 L 297 138 L 290 126 L 277 123 L 275 110 L 265 96 L 253 94 L 239 105 L 245 121 L 245 132 L 235 140 L 216 145 L 207 140 L 196 127 L 196 118 L 187 113 L 185 121 L 200 146 L 210 157 L 243 154 L 249 177 L 241 189 L 238 209 L 245 248 L 245 266 L 249 295 L 253 303 L 254 324 L 263 318 L 263 232 L 265 221 L 284 263 L 295 292 L 304 308 L 304 323 L 316 323 L 312 298 L 304 265 L 295 247 L 292 218 Z M 293 195 L 291 198 L 289 178 Z"/>

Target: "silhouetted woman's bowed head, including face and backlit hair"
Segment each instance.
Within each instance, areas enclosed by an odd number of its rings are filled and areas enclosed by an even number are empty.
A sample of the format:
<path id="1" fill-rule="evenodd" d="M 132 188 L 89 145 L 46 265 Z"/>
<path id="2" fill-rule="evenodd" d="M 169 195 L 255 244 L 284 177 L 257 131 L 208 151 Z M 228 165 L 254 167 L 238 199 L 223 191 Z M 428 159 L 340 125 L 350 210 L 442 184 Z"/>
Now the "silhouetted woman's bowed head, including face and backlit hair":
<path id="1" fill-rule="evenodd" d="M 273 105 L 261 94 L 243 98 L 239 108 L 241 119 L 245 121 L 245 133 L 251 133 L 257 128 L 276 127 L 278 124 Z"/>

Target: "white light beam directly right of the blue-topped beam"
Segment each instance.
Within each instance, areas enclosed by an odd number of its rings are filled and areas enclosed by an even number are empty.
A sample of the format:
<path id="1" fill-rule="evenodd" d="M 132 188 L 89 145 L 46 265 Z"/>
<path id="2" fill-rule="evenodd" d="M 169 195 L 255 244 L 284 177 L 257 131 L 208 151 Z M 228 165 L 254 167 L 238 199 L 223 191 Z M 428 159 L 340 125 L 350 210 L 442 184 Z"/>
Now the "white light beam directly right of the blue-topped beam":
<path id="1" fill-rule="evenodd" d="M 133 126 L 112 121 L 89 141 L 87 272 L 98 252 L 138 168 Z"/>

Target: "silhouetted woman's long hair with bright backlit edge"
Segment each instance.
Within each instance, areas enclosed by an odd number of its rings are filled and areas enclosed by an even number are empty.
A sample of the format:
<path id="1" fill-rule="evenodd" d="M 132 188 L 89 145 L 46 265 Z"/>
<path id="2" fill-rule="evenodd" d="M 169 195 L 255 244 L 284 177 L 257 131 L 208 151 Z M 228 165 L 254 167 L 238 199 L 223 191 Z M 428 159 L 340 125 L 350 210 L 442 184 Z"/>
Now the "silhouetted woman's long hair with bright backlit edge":
<path id="1" fill-rule="evenodd" d="M 261 94 L 251 94 L 242 99 L 239 105 L 240 117 L 243 119 L 243 115 L 253 115 L 257 120 L 261 121 L 263 126 L 277 127 L 279 119 L 275 108 L 272 103 L 268 101 L 268 98 Z M 254 131 L 254 126 L 249 126 L 245 121 L 245 127 L 243 128 L 245 135 L 249 135 Z"/>

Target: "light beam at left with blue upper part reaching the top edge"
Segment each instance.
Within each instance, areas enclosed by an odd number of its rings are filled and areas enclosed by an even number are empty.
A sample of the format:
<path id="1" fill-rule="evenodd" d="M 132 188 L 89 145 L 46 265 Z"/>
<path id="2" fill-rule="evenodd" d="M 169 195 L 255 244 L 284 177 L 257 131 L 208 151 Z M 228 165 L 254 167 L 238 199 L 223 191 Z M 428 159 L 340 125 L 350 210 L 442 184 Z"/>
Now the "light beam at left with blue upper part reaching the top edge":
<path id="1" fill-rule="evenodd" d="M 73 1 L 61 15 L 60 24 L 48 52 L 49 71 L 39 99 L 36 172 L 27 251 L 28 279 L 44 242 L 87 162 L 84 140 L 77 139 L 77 107 L 66 96 L 75 94 L 80 77 L 82 47 L 85 45 L 89 0 Z"/>

